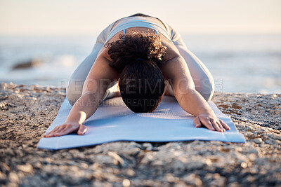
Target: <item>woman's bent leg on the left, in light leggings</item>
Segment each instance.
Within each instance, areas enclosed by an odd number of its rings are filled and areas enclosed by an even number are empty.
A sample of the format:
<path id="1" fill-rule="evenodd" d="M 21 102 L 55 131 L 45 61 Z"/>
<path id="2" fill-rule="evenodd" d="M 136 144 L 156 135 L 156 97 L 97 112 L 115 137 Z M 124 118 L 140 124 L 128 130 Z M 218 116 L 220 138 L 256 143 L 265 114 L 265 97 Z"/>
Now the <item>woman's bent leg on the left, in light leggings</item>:
<path id="1" fill-rule="evenodd" d="M 86 77 L 88 76 L 89 71 L 93 66 L 93 63 L 96 61 L 98 52 L 100 52 L 100 49 L 103 48 L 103 45 L 107 39 L 108 34 L 110 33 L 110 29 L 112 29 L 113 24 L 114 23 L 109 25 L 106 29 L 103 30 L 103 32 L 101 32 L 98 35 L 96 44 L 95 46 L 93 46 L 93 50 L 91 54 L 88 57 L 86 57 L 86 59 L 83 62 L 81 62 L 81 64 L 79 64 L 77 69 L 75 69 L 72 76 L 70 77 L 70 82 L 66 90 L 66 97 L 70 102 L 70 104 L 73 105 L 77 101 L 77 99 L 81 97 L 82 89 Z M 110 87 L 111 86 L 112 85 L 110 85 Z M 107 97 L 112 97 L 112 95 L 110 95 L 108 91 L 105 93 L 105 97 L 103 99 Z"/>

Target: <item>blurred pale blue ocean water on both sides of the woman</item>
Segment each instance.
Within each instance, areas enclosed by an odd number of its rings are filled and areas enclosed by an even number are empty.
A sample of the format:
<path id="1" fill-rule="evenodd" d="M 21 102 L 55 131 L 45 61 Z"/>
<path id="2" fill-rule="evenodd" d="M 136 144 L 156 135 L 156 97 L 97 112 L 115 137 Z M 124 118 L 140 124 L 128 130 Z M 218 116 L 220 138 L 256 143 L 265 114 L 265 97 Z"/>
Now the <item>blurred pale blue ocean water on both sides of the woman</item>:
<path id="1" fill-rule="evenodd" d="M 183 35 L 183 40 L 211 71 L 216 91 L 281 93 L 281 35 Z M 65 87 L 95 41 L 96 36 L 1 36 L 0 81 Z M 31 59 L 42 63 L 12 69 Z"/>

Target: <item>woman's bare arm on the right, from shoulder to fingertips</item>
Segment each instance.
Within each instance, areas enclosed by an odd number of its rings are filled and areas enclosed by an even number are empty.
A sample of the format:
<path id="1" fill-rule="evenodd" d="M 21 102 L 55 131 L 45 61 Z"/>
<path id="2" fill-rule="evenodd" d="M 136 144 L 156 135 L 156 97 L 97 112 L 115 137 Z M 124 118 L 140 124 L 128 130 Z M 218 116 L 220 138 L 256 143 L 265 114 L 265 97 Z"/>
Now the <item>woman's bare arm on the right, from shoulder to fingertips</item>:
<path id="1" fill-rule="evenodd" d="M 161 68 L 162 73 L 170 81 L 174 95 L 181 107 L 195 116 L 196 127 L 204 125 L 209 130 L 219 132 L 230 130 L 230 127 L 223 120 L 216 117 L 204 97 L 195 90 L 190 71 L 183 57 L 176 52 L 174 55 L 170 53 L 169 56 L 171 58 L 166 60 Z"/>

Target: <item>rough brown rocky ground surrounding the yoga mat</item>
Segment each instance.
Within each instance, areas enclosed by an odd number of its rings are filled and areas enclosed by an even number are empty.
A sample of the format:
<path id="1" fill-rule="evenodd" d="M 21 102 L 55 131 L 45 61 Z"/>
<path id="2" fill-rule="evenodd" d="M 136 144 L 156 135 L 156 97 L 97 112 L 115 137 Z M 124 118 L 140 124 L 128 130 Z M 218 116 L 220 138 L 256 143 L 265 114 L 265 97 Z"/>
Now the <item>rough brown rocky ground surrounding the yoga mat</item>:
<path id="1" fill-rule="evenodd" d="M 281 95 L 216 92 L 246 144 L 114 142 L 37 148 L 64 88 L 1 83 L 0 186 L 281 186 Z"/>

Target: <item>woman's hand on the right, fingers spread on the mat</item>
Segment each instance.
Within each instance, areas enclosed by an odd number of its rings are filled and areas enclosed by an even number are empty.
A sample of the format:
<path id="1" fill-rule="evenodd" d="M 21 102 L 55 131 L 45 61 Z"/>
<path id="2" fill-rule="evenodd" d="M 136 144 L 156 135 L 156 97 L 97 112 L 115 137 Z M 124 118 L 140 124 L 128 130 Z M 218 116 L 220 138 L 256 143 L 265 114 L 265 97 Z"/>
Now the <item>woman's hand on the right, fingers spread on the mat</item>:
<path id="1" fill-rule="evenodd" d="M 200 114 L 196 118 L 194 118 L 195 127 L 202 127 L 204 125 L 209 130 L 216 130 L 219 132 L 225 132 L 226 130 L 230 130 L 230 127 L 223 120 L 216 117 L 215 114 Z"/>

